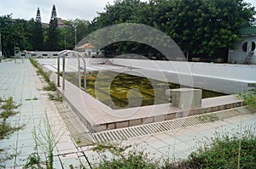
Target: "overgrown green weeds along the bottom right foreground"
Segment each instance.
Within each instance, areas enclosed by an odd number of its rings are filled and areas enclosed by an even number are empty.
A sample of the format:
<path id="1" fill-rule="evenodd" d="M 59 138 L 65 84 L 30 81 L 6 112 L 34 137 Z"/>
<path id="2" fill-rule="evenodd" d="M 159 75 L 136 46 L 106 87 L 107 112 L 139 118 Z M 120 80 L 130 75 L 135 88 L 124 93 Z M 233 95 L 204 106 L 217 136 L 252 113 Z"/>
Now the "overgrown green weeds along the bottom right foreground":
<path id="1" fill-rule="evenodd" d="M 154 160 L 149 157 L 152 155 L 144 150 L 130 149 L 130 146 L 98 144 L 93 150 L 101 155 L 102 161 L 94 168 L 254 169 L 256 168 L 256 123 L 252 127 L 241 129 L 242 132 L 217 130 L 212 138 L 201 139 L 196 144 L 195 151 L 185 160 L 175 158 L 164 161 Z"/>

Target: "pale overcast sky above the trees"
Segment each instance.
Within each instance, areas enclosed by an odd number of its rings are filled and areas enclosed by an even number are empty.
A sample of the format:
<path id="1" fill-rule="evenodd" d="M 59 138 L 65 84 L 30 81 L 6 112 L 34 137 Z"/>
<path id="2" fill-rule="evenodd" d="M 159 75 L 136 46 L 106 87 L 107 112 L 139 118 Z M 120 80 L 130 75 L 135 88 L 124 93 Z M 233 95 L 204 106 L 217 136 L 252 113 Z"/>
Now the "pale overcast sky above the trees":
<path id="1" fill-rule="evenodd" d="M 44 23 L 49 23 L 53 4 L 57 17 L 63 20 L 93 20 L 102 12 L 107 3 L 113 4 L 114 0 L 0 0 L 0 16 L 12 14 L 14 19 L 30 20 L 36 18 L 37 8 L 40 8 L 41 18 Z M 144 0 L 145 1 L 145 0 Z M 246 0 L 256 7 L 256 0 Z"/>

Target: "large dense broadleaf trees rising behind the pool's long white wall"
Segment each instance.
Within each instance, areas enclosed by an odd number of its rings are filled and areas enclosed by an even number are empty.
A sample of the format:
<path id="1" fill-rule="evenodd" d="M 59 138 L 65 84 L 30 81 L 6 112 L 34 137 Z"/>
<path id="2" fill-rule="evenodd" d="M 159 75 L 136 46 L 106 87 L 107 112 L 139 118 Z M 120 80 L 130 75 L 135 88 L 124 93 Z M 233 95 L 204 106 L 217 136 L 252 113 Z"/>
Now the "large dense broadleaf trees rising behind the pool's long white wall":
<path id="1" fill-rule="evenodd" d="M 172 37 L 190 58 L 213 59 L 234 48 L 241 40 L 240 28 L 252 25 L 253 14 L 244 0 L 119 0 L 108 3 L 92 25 L 94 30 L 125 22 L 151 25 Z M 118 50 L 140 46 L 127 45 L 119 44 Z"/>

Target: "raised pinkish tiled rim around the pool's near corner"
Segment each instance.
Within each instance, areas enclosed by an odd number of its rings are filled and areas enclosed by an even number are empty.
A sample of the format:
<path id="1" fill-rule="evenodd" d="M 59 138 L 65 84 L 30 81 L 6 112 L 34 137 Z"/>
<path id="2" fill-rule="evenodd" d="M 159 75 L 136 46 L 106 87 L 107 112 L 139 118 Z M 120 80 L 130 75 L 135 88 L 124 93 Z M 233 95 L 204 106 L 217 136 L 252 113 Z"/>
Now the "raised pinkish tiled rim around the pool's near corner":
<path id="1" fill-rule="evenodd" d="M 39 59 L 39 63 L 44 63 L 44 60 Z M 52 64 L 44 63 L 42 65 L 44 65 L 45 71 L 56 71 L 56 66 Z M 88 65 L 87 67 L 89 67 L 87 68 L 89 70 L 91 70 L 92 67 L 94 70 L 130 70 L 129 67 L 113 65 Z M 69 65 L 69 67 L 67 67 L 67 70 L 75 69 L 77 69 L 75 65 Z M 55 82 L 57 75 L 52 73 L 50 78 Z M 202 99 L 201 108 L 191 110 L 179 110 L 173 107 L 172 104 L 154 104 L 143 107 L 113 110 L 108 107 L 108 105 L 102 104 L 102 102 L 93 98 L 90 94 L 85 93 L 71 82 L 65 81 L 65 90 L 62 90 L 62 87 L 58 87 L 58 91 L 63 94 L 67 103 L 69 103 L 77 115 L 79 115 L 80 120 L 84 122 L 84 125 L 89 128 L 90 132 L 100 132 L 108 129 L 168 121 L 189 115 L 200 115 L 218 110 L 232 109 L 242 105 L 241 99 L 236 99 L 234 95 L 228 95 Z"/>

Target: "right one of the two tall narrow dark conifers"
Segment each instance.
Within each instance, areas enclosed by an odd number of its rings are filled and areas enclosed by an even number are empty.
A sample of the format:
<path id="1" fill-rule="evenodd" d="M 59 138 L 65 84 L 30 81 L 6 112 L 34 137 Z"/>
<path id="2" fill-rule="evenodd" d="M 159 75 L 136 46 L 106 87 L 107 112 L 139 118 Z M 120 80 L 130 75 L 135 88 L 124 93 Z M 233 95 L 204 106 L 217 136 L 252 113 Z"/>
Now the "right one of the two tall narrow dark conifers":
<path id="1" fill-rule="evenodd" d="M 52 7 L 51 17 L 49 20 L 49 37 L 46 48 L 50 51 L 59 50 L 58 18 L 55 5 Z"/>

